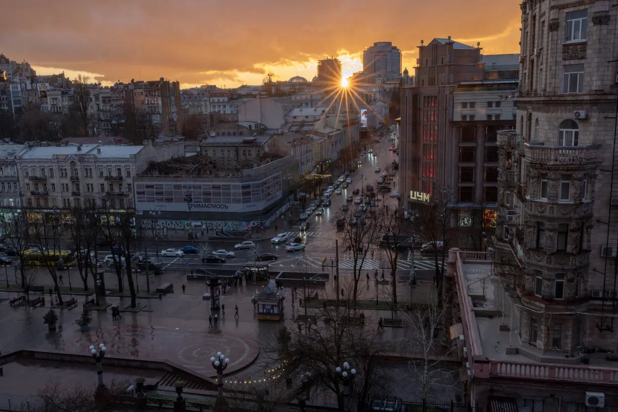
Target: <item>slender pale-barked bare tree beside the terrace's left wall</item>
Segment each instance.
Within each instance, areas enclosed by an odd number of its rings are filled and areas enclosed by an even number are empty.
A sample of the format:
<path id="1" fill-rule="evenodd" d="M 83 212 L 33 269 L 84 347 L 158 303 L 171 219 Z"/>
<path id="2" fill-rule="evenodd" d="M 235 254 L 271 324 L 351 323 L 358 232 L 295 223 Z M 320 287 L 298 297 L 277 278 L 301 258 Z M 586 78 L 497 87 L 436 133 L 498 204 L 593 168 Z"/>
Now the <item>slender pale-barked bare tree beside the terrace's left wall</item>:
<path id="1" fill-rule="evenodd" d="M 412 330 L 412 338 L 407 340 L 412 352 L 408 363 L 410 377 L 420 387 L 423 399 L 430 395 L 434 387 L 453 387 L 457 382 L 457 379 L 452 379 L 454 371 L 444 368 L 454 351 L 452 347 L 442 345 L 446 339 L 441 334 L 449 333 L 443 328 L 444 317 L 449 310 L 451 308 L 440 305 L 428 294 L 422 305 L 404 312 L 405 321 Z"/>

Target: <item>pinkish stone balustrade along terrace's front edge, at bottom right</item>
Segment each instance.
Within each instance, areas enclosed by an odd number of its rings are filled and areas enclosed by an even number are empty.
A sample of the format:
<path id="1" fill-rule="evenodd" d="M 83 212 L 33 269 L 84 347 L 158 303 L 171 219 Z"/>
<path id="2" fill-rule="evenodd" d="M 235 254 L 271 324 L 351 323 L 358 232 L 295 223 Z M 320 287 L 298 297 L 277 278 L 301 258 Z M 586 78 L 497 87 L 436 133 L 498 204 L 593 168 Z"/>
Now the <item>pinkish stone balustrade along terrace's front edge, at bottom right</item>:
<path id="1" fill-rule="evenodd" d="M 491 361 L 492 376 L 618 384 L 618 369 Z"/>

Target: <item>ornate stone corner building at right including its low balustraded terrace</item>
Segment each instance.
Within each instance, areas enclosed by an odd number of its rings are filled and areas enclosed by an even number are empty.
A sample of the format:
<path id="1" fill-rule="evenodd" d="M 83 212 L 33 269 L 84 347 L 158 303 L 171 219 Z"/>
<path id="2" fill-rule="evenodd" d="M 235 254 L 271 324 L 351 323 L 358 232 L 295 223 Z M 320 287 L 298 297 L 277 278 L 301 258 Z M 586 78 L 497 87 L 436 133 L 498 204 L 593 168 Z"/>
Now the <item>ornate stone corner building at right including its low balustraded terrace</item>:
<path id="1" fill-rule="evenodd" d="M 496 253 L 449 259 L 468 393 L 492 410 L 618 406 L 615 6 L 521 4 L 517 125 L 497 132 Z"/>

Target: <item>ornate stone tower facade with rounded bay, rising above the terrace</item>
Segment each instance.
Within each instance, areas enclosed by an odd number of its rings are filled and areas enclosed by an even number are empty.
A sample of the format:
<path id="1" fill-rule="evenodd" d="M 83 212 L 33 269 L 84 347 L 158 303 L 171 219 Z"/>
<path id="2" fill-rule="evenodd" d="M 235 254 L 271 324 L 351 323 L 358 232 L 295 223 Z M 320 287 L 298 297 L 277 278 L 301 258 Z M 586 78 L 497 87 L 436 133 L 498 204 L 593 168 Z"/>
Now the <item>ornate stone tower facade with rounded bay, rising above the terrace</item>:
<path id="1" fill-rule="evenodd" d="M 531 358 L 618 350 L 614 3 L 522 2 L 517 127 L 497 137 L 495 240 Z"/>

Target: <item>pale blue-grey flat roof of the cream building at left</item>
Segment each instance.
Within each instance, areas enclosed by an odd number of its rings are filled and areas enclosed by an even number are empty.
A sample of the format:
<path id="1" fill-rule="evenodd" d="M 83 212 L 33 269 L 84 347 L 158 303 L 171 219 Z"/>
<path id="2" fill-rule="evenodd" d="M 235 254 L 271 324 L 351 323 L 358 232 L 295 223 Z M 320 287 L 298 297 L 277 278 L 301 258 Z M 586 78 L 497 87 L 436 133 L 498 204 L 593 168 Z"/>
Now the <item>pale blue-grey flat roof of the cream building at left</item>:
<path id="1" fill-rule="evenodd" d="M 20 157 L 22 159 L 52 159 L 54 156 L 84 156 L 93 155 L 97 158 L 130 159 L 139 153 L 144 146 L 116 145 L 75 145 L 26 148 Z M 100 153 L 98 151 L 100 149 Z"/>

